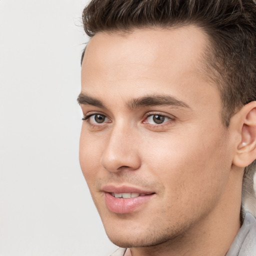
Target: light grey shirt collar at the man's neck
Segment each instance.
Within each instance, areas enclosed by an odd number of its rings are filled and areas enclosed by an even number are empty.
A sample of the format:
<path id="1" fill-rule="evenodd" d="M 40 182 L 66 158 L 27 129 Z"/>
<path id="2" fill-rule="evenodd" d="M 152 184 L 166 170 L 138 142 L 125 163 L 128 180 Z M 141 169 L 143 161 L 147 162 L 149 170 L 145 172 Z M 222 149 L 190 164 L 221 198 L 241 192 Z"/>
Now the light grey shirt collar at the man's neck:
<path id="1" fill-rule="evenodd" d="M 126 256 L 126 254 L 129 255 L 127 249 L 118 248 L 110 256 Z M 225 256 L 256 256 L 256 219 L 251 213 L 245 213 L 242 226 Z"/>

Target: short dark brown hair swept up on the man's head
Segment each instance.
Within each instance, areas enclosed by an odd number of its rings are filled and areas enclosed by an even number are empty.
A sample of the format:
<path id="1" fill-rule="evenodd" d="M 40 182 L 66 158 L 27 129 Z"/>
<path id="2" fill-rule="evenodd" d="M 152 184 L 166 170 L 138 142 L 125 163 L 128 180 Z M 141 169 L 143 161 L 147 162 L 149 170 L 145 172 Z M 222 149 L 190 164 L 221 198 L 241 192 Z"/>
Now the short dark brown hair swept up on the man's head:
<path id="1" fill-rule="evenodd" d="M 197 25 L 209 38 L 205 66 L 211 71 L 209 78 L 219 85 L 223 124 L 227 127 L 236 109 L 256 100 L 253 0 L 91 0 L 82 21 L 89 36 L 102 31 Z"/>

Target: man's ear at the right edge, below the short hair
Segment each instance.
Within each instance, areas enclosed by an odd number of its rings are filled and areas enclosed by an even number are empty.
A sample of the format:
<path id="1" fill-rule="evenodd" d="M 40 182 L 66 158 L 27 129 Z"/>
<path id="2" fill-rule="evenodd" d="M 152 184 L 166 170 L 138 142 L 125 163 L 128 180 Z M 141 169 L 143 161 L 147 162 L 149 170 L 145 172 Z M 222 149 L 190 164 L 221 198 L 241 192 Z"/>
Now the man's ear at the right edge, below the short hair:
<path id="1" fill-rule="evenodd" d="M 245 167 L 256 159 L 256 101 L 244 105 L 236 114 L 239 116 L 240 141 L 232 163 Z"/>

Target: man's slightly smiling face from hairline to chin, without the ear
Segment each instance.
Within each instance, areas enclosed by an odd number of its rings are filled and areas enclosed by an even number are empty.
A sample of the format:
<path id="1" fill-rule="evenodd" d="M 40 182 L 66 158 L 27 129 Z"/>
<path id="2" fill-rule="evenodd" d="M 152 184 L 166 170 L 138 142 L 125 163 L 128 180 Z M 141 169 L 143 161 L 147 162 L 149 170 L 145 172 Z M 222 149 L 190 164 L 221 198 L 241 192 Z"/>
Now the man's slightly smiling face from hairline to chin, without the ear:
<path id="1" fill-rule="evenodd" d="M 199 71 L 205 43 L 187 26 L 102 32 L 87 45 L 79 160 L 119 246 L 189 233 L 223 200 L 232 155 L 219 92 Z"/>

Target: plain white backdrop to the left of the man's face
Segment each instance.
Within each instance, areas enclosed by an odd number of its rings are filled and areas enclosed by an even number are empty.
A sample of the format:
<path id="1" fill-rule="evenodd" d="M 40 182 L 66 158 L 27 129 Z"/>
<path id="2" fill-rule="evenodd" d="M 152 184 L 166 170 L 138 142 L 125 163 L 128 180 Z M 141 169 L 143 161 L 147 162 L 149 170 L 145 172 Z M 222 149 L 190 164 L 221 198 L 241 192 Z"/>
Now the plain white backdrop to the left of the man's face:
<path id="1" fill-rule="evenodd" d="M 78 162 L 87 0 L 0 0 L 0 256 L 104 256 Z"/>

